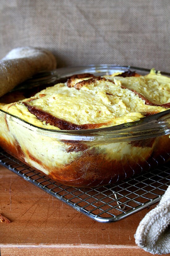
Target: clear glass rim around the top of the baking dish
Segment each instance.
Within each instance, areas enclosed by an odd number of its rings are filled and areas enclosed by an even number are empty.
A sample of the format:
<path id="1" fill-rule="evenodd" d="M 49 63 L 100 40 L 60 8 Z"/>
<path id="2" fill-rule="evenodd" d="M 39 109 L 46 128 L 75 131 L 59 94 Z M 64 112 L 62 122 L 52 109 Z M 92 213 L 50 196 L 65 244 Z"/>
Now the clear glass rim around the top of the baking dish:
<path id="1" fill-rule="evenodd" d="M 55 77 L 56 79 L 67 77 L 64 76 L 64 73 L 67 74 L 69 72 L 78 74 L 77 72 L 84 71 L 85 69 L 91 69 L 91 71 L 96 71 L 96 69 L 122 69 L 129 70 L 135 69 L 140 70 L 142 72 L 150 72 L 150 69 L 134 67 L 134 66 L 125 66 L 125 65 L 112 65 L 112 64 L 99 64 L 99 65 L 85 65 L 79 67 L 65 67 L 58 68 L 56 70 L 40 72 L 36 76 L 31 79 L 25 81 L 25 83 L 30 83 L 30 81 L 38 81 L 42 75 L 48 76 L 49 74 Z M 78 69 L 78 70 L 77 70 Z M 74 70 L 74 72 L 73 72 Z M 76 72 L 77 70 L 77 72 Z M 90 70 L 89 70 L 90 71 Z M 99 70 L 100 71 L 100 70 Z M 156 71 L 158 72 L 158 71 Z M 170 73 L 161 72 L 161 74 L 170 76 Z M 33 124 L 20 119 L 17 116 L 11 115 L 3 110 L 0 112 L 4 113 L 4 115 L 8 116 L 12 121 L 19 123 L 20 125 L 25 126 L 29 130 L 36 131 L 37 133 L 53 137 L 59 141 L 63 142 L 83 142 L 83 141 L 96 141 L 96 143 L 100 142 L 119 142 L 119 141 L 136 141 L 142 139 L 149 139 L 153 137 L 159 137 L 162 135 L 170 134 L 170 110 L 165 110 L 163 112 L 157 113 L 155 115 L 151 115 L 145 117 L 139 121 L 132 123 L 125 123 L 120 125 L 115 125 L 111 127 L 105 128 L 96 128 L 96 129 L 87 129 L 87 130 L 53 130 L 47 128 L 41 128 L 35 126 Z"/>

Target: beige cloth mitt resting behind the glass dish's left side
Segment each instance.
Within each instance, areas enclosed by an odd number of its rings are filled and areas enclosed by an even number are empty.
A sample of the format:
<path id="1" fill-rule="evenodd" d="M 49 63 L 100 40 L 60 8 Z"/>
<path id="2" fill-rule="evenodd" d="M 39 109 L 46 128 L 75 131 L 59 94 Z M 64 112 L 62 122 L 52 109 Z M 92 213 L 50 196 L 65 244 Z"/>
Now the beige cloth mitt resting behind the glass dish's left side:
<path id="1" fill-rule="evenodd" d="M 53 70 L 54 55 L 39 47 L 17 47 L 0 60 L 0 97 L 40 71 Z"/>

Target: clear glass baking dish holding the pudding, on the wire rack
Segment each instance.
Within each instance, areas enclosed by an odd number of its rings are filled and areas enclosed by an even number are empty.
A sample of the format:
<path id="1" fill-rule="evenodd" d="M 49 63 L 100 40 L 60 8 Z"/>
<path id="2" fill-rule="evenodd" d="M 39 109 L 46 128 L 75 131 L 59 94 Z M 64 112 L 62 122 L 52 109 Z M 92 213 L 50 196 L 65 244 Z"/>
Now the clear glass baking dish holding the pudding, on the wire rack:
<path id="1" fill-rule="evenodd" d="M 150 72 L 119 65 L 61 68 L 40 73 L 15 90 L 49 86 L 73 74 L 128 70 Z M 87 130 L 40 128 L 0 110 L 0 146 L 54 181 L 76 187 L 117 183 L 164 164 L 170 159 L 169 134 L 169 109 L 132 123 Z"/>

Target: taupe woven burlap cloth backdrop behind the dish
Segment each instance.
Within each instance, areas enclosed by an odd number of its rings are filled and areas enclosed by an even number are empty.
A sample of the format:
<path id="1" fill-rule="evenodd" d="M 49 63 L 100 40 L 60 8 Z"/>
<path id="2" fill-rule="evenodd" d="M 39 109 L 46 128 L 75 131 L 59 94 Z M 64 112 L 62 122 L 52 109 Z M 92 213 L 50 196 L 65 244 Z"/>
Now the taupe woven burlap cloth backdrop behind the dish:
<path id="1" fill-rule="evenodd" d="M 58 67 L 119 64 L 169 72 L 169 0 L 0 0 L 0 58 L 52 51 Z"/>

